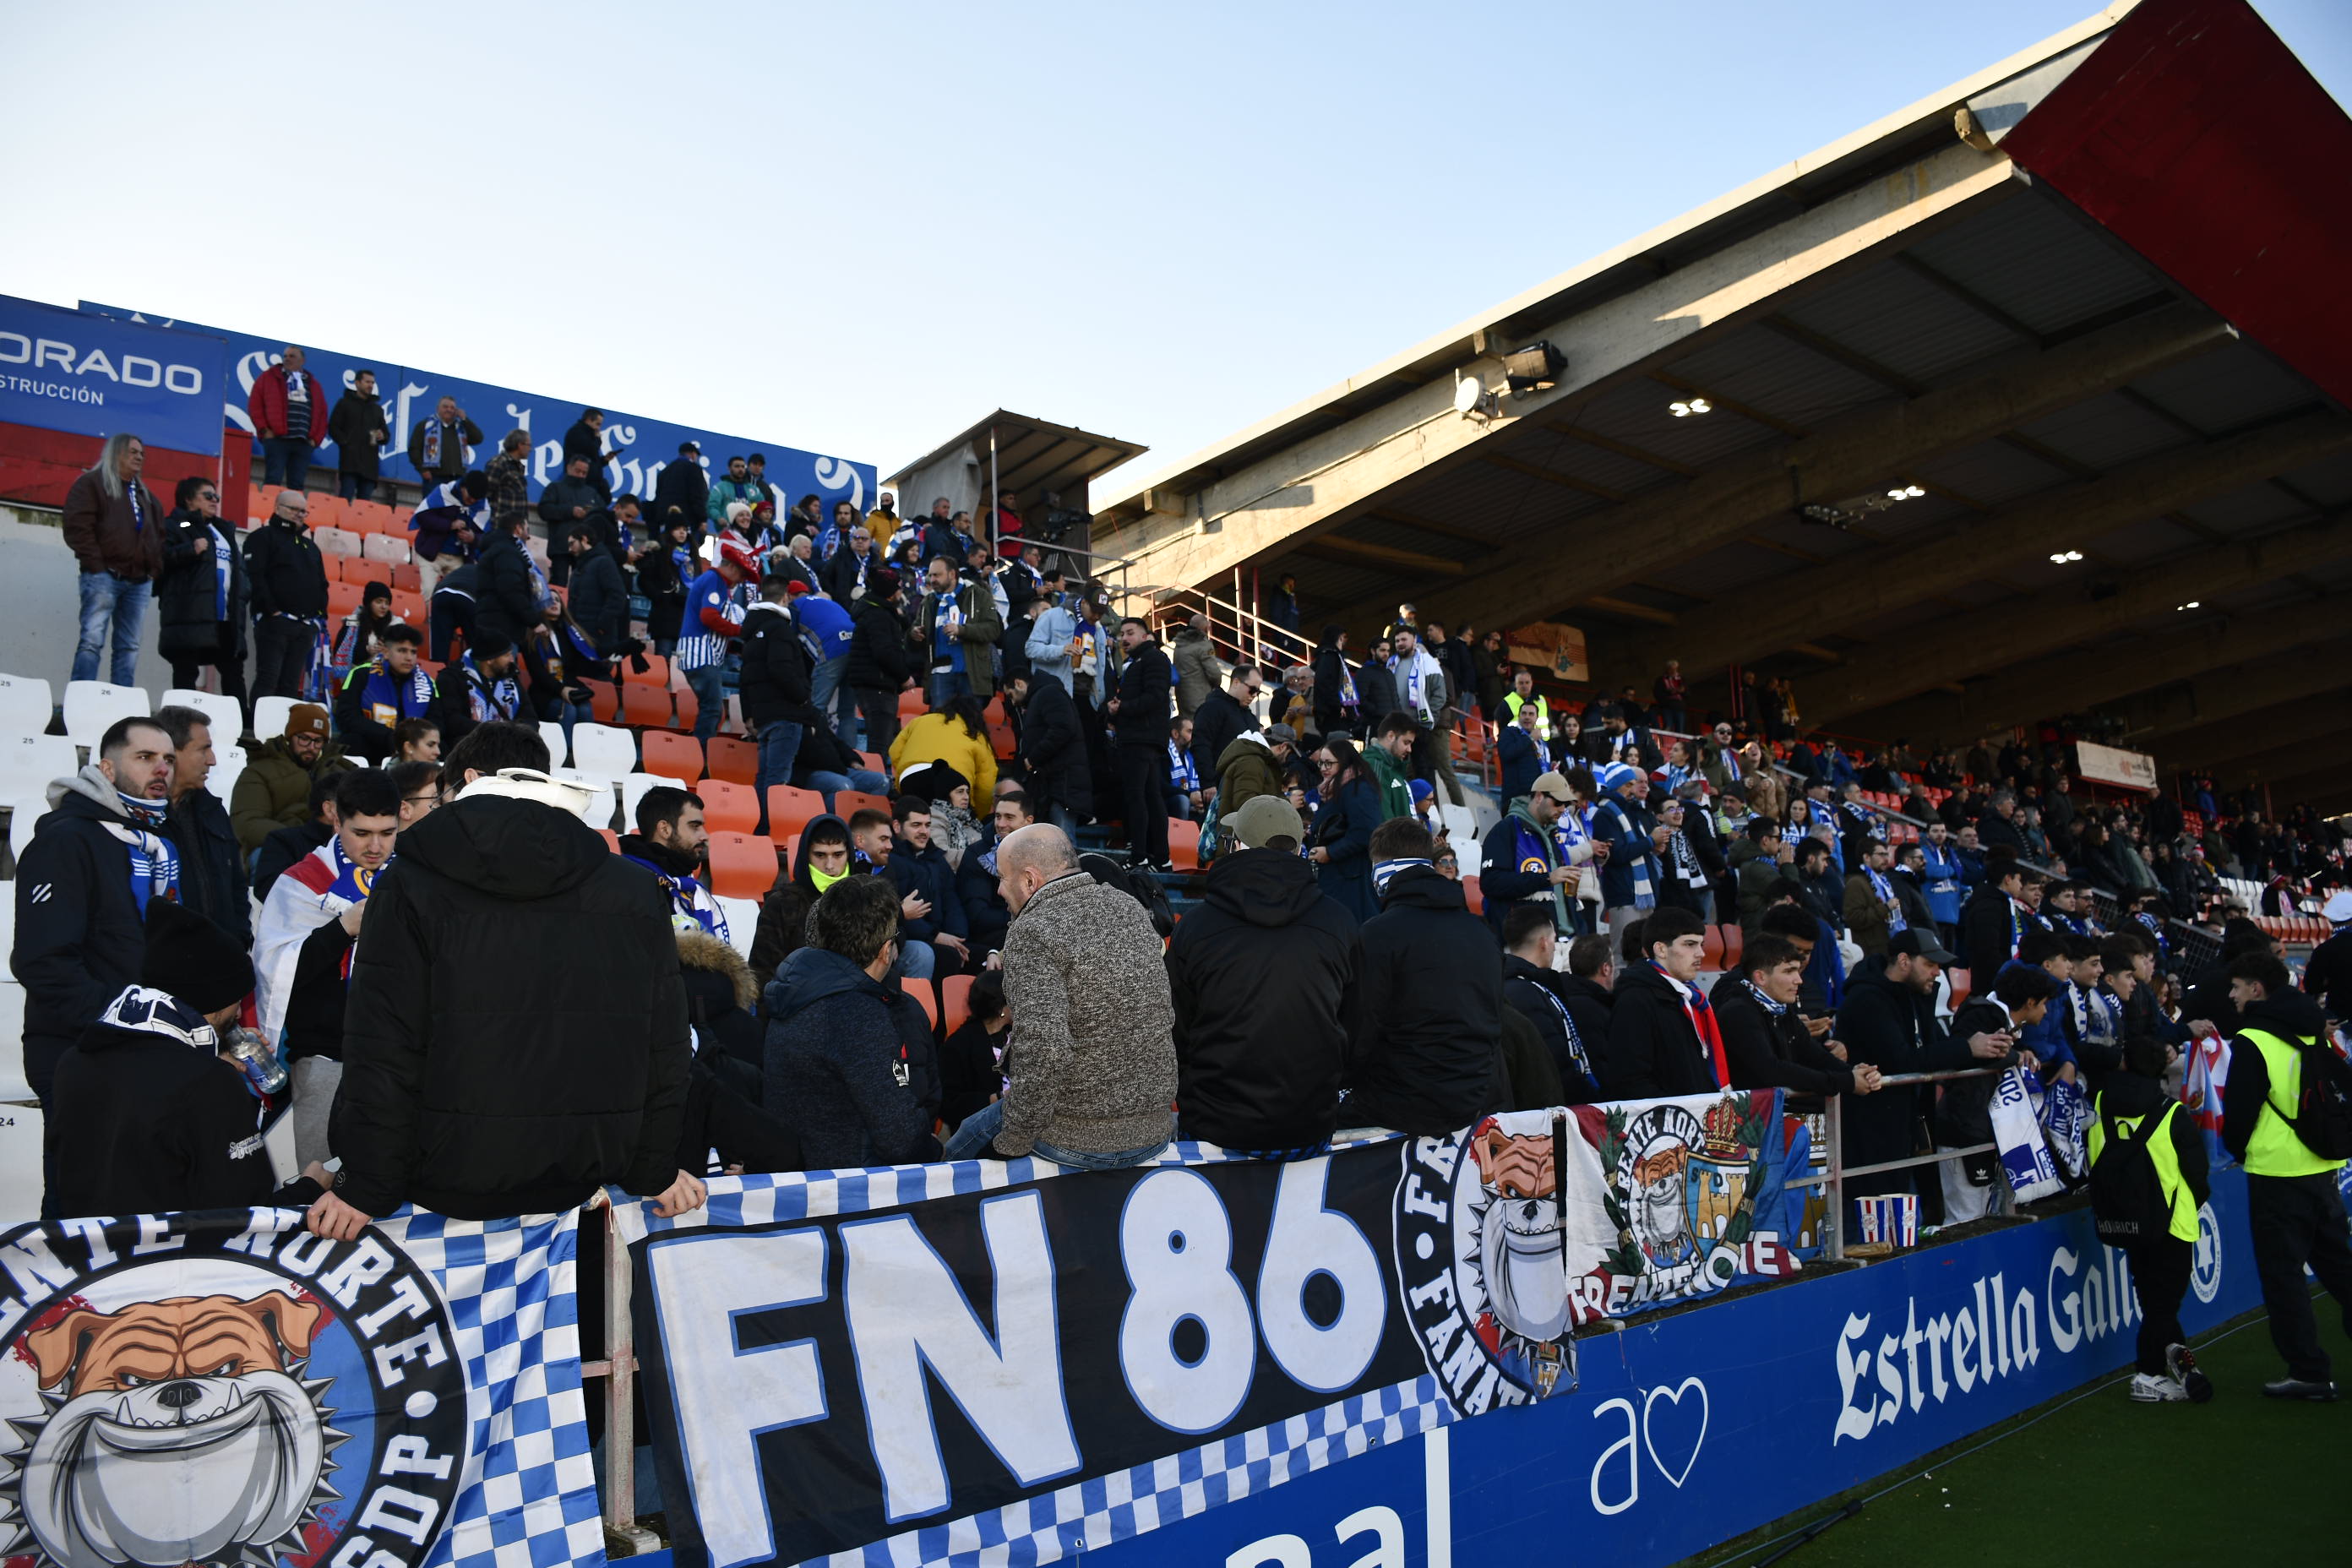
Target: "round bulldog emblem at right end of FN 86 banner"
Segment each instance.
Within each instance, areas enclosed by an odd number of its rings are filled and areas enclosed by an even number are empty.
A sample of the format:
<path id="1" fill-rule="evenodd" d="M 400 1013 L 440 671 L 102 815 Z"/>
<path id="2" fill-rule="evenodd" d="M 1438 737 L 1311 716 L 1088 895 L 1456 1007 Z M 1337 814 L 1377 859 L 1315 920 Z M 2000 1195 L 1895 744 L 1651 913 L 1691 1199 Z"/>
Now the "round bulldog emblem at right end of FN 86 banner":
<path id="1" fill-rule="evenodd" d="M 1541 1117 L 1406 1145 L 1397 1279 L 1421 1356 L 1461 1415 L 1576 1387 L 1555 1192 Z"/>

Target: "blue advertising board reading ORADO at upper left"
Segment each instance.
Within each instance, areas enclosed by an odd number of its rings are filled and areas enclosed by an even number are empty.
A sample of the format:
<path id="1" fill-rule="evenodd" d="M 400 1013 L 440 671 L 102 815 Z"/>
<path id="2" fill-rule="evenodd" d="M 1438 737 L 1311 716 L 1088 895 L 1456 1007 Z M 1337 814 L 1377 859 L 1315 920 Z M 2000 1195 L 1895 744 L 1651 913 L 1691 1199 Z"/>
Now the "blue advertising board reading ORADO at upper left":
<path id="1" fill-rule="evenodd" d="M 0 296 L 0 423 L 221 449 L 228 343 Z"/>

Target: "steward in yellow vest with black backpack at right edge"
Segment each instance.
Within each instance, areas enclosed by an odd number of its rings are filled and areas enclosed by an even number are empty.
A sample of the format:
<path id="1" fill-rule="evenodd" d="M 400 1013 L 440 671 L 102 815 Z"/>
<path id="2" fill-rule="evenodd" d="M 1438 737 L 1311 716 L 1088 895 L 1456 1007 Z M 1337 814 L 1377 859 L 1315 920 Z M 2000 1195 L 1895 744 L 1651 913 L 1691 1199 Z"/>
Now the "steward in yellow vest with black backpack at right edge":
<path id="1" fill-rule="evenodd" d="M 2303 1269 L 2310 1265 L 2345 1314 L 2352 1335 L 2352 1227 L 2336 1190 L 2345 1161 L 2321 1154 L 2300 1124 L 2305 1074 L 2324 1072 L 2319 1053 L 2326 1018 L 2293 987 L 2267 947 L 2230 959 L 2230 1001 L 2241 1027 L 2230 1039 L 2230 1081 L 2223 1088 L 2220 1140 L 2246 1166 L 2246 1220 L 2253 1229 L 2253 1272 L 2263 1281 L 2270 1342 L 2286 1356 L 2286 1375 L 2265 1382 L 2270 1399 L 2336 1399 L 2328 1352 L 2319 1347 Z"/>

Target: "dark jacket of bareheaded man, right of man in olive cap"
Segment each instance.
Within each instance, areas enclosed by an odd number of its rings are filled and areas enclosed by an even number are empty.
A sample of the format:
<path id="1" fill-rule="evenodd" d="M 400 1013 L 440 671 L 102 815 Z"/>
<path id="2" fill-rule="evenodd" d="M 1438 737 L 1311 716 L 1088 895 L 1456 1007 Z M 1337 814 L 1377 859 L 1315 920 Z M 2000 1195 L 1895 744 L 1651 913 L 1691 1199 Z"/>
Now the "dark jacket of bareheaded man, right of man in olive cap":
<path id="1" fill-rule="evenodd" d="M 1181 926 L 1178 926 L 1181 929 Z M 1503 966 L 1458 882 L 1409 865 L 1364 922 L 1350 1117 L 1399 1133 L 1465 1128 L 1503 1105 Z"/>

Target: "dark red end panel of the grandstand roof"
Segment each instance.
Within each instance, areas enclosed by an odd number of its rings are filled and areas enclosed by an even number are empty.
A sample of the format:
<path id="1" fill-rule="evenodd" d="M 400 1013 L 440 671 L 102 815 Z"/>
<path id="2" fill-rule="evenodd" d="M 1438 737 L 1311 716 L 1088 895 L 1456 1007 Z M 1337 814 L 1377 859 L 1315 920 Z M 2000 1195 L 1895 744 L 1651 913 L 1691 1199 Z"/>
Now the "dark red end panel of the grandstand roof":
<path id="1" fill-rule="evenodd" d="M 2244 0 L 2145 0 L 2002 150 L 2352 404 L 2352 118 Z"/>

